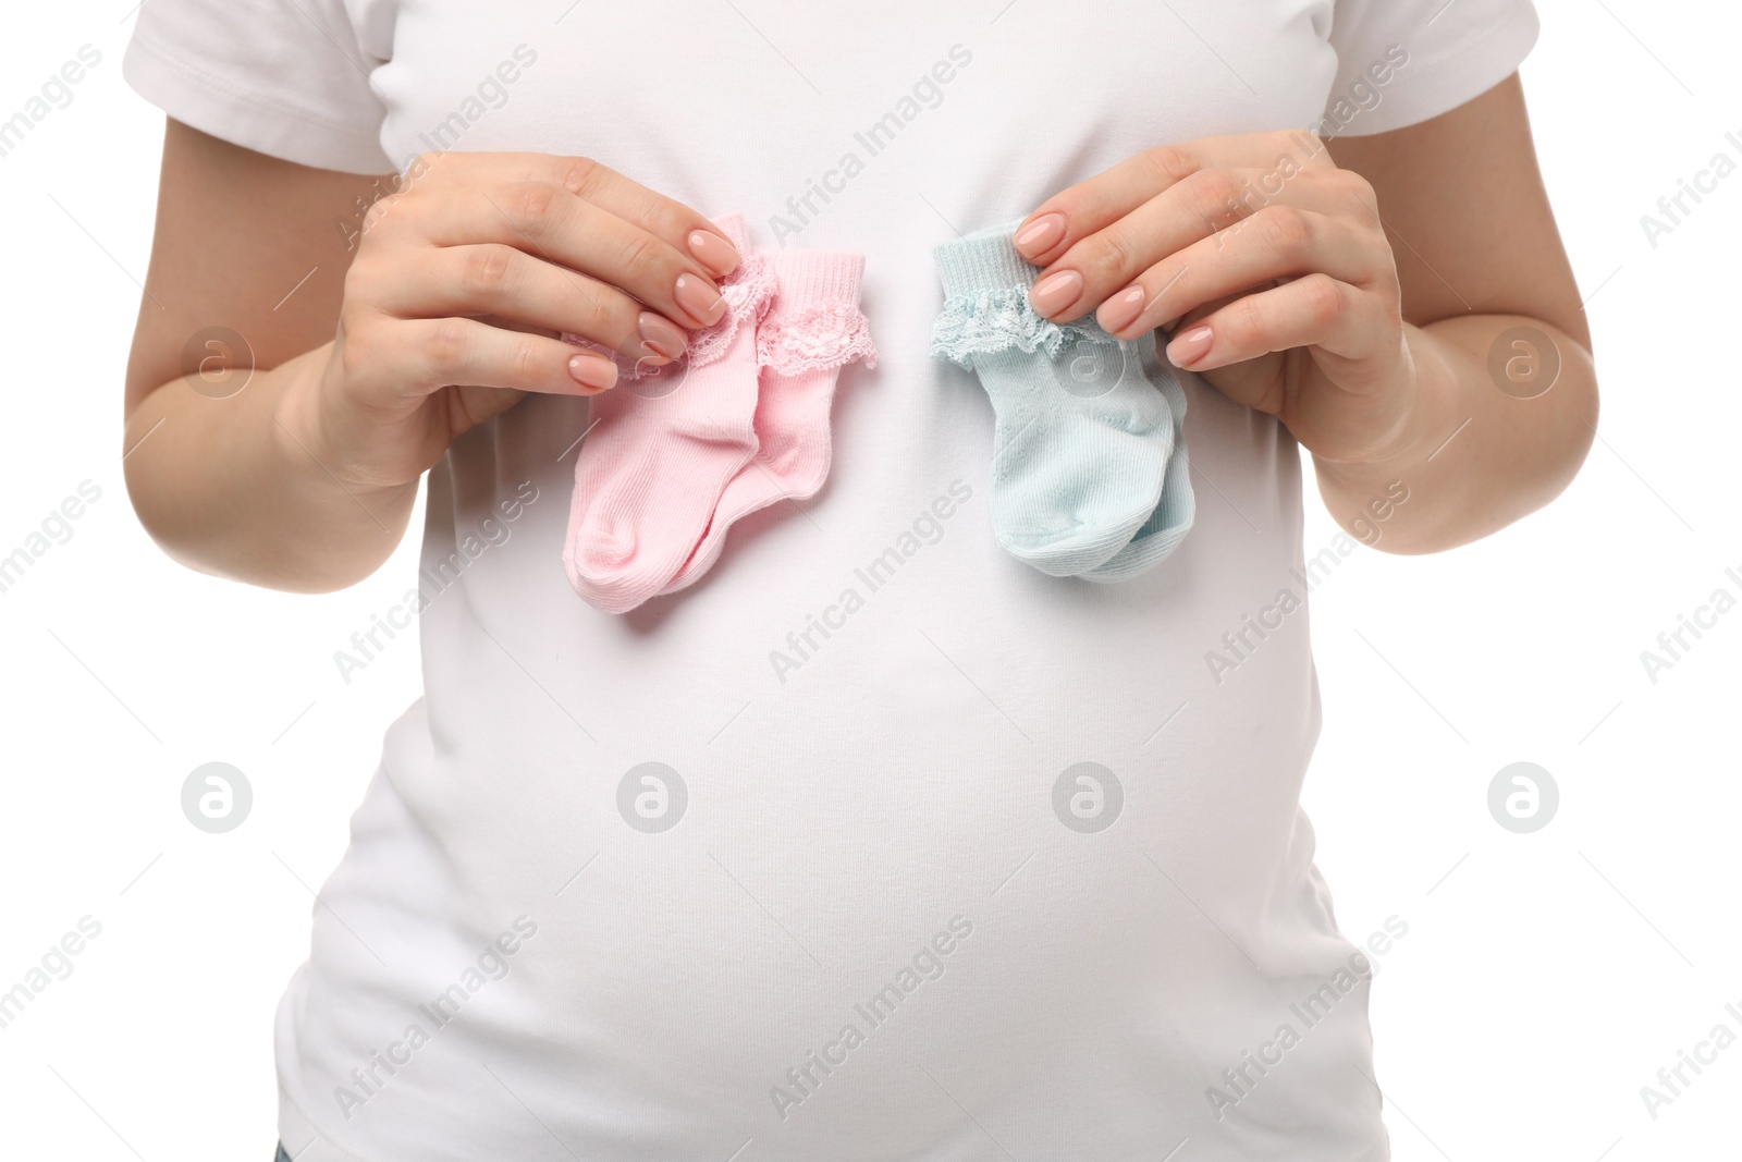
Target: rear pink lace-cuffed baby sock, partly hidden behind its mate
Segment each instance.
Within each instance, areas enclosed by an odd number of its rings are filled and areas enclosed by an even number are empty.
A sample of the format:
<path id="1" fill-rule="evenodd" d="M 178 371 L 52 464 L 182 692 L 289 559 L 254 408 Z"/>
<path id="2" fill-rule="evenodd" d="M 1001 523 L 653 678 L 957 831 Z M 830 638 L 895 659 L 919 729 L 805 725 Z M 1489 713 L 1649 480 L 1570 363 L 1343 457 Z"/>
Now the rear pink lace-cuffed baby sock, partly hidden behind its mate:
<path id="1" fill-rule="evenodd" d="M 859 359 L 876 366 L 876 348 L 859 312 L 864 254 L 794 249 L 763 256 L 773 272 L 775 300 L 756 331 L 761 364 L 756 455 L 726 484 L 693 556 L 662 592 L 676 592 L 707 573 L 735 521 L 822 488 L 840 371 Z"/>

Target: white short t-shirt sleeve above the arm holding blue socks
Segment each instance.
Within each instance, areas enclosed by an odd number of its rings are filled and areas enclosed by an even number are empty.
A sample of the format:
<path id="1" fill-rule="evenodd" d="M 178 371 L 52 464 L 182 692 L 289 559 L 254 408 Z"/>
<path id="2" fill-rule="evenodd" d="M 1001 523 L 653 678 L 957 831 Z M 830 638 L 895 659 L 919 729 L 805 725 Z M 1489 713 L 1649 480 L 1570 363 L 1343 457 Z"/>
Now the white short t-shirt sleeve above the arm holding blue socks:
<path id="1" fill-rule="evenodd" d="M 1536 44 L 1531 0 L 1336 0 L 1336 84 L 1320 136 L 1364 136 L 1448 113 L 1517 71 Z"/>

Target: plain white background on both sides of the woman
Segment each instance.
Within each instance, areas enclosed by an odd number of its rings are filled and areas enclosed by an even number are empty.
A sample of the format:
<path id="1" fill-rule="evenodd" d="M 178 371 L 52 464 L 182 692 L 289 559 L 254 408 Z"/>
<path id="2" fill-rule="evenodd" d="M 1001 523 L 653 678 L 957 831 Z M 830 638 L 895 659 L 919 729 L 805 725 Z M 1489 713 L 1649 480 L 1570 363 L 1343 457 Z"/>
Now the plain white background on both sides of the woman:
<path id="1" fill-rule="evenodd" d="M 30 5 L 0 40 L 0 117 L 80 45 L 103 54 L 0 159 L 0 556 L 101 488 L 0 592 L 0 991 L 80 916 L 103 925 L 0 1030 L 0 1157 L 265 1162 L 272 1012 L 381 730 L 418 692 L 411 636 L 350 685 L 333 652 L 404 592 L 416 537 L 368 582 L 301 598 L 178 568 L 134 521 L 120 392 L 162 115 L 120 77 L 129 3 Z M 1589 296 L 1599 441 L 1547 512 L 1435 557 L 1361 551 L 1313 592 L 1326 730 L 1306 808 L 1343 930 L 1409 925 L 1374 986 L 1399 1162 L 1733 1157 L 1742 1045 L 1655 1120 L 1639 1089 L 1719 1021 L 1742 1033 L 1725 1012 L 1742 1012 L 1742 610 L 1655 685 L 1639 653 L 1716 587 L 1742 594 L 1725 577 L 1742 577 L 1742 174 L 1655 247 L 1639 220 L 1714 153 L 1742 162 L 1742 14 L 1538 9 L 1524 85 Z M 1313 500 L 1308 547 L 1333 533 Z M 181 815 L 213 760 L 254 789 L 230 834 Z M 1519 760 L 1561 789 L 1535 834 L 1488 814 Z"/>

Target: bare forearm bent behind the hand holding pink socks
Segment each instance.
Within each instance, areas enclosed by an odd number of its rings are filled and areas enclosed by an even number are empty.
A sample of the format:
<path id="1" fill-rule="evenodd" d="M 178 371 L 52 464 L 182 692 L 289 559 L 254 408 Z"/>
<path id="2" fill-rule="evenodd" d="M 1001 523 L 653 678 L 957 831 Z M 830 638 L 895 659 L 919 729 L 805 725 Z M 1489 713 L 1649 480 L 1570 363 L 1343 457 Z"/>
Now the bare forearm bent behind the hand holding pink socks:
<path id="1" fill-rule="evenodd" d="M 404 537 L 416 481 L 341 484 L 280 422 L 287 392 L 312 397 L 321 347 L 226 399 L 171 380 L 145 395 L 124 436 L 127 491 L 152 538 L 202 573 L 331 592 L 373 573 Z"/>

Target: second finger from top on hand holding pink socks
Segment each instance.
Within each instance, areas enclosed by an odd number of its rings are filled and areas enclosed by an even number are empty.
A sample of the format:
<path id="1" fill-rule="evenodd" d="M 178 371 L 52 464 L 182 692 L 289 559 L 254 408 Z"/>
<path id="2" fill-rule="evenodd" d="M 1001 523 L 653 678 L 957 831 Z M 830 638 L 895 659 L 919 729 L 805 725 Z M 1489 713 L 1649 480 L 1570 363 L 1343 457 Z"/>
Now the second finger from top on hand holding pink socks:
<path id="1" fill-rule="evenodd" d="M 550 183 L 432 190 L 413 228 L 436 246 L 512 246 L 622 287 L 686 328 L 711 326 L 726 310 L 699 261 Z"/>

